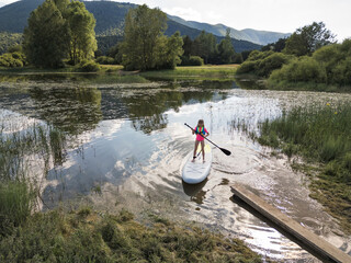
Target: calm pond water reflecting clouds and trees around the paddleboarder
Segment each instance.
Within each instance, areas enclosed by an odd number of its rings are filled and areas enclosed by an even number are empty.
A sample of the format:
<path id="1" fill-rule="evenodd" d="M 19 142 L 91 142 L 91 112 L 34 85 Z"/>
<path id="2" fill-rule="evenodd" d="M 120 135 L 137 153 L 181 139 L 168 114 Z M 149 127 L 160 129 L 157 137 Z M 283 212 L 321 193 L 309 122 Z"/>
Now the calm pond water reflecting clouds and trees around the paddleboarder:
<path id="1" fill-rule="evenodd" d="M 241 90 L 233 81 L 158 81 L 149 84 L 97 84 L 47 78 L 0 82 L 0 123 L 8 132 L 35 124 L 63 130 L 67 144 L 42 184 L 43 209 L 59 202 L 88 202 L 97 209 L 126 207 L 143 220 L 149 213 L 196 221 L 245 240 L 279 261 L 318 262 L 308 252 L 235 202 L 229 185 L 239 182 L 306 228 L 350 253 L 351 237 L 308 197 L 307 180 L 285 157 L 253 142 L 235 128 L 274 118 L 293 105 L 350 100 L 344 94 Z M 194 137 L 183 124 L 205 121 L 214 150 L 208 179 L 181 180 L 181 167 Z M 54 158 L 55 159 L 55 158 Z M 56 165 L 54 165 L 56 163 Z M 32 173 L 43 163 L 35 160 Z"/>

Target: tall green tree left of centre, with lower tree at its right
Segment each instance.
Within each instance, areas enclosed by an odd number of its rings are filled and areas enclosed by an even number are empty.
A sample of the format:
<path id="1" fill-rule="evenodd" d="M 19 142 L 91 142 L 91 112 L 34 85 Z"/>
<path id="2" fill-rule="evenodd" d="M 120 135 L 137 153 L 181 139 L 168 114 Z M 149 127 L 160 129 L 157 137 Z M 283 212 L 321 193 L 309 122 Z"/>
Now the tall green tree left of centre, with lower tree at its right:
<path id="1" fill-rule="evenodd" d="M 127 70 L 154 69 L 160 37 L 167 28 L 167 15 L 146 4 L 131 9 L 125 19 L 122 64 Z"/>

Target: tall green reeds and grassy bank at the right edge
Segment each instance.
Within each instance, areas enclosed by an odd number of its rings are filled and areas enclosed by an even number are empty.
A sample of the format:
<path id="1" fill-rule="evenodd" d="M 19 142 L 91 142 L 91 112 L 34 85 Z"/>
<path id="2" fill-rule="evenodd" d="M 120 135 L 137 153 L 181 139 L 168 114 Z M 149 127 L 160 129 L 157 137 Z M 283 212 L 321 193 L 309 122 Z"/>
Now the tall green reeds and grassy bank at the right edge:
<path id="1" fill-rule="evenodd" d="M 295 165 L 312 179 L 310 196 L 340 219 L 351 232 L 351 105 L 296 107 L 260 125 L 258 141 L 298 155 L 307 163 Z"/>

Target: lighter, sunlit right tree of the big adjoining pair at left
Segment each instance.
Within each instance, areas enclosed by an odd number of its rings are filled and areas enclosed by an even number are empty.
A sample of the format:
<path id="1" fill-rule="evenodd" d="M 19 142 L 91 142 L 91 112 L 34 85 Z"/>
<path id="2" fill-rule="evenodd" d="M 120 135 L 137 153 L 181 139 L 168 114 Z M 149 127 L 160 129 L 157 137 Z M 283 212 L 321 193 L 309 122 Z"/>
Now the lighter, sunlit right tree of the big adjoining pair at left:
<path id="1" fill-rule="evenodd" d="M 70 2 L 66 13 L 70 28 L 70 60 L 76 65 L 83 59 L 93 58 L 98 49 L 94 16 L 79 1 Z"/>

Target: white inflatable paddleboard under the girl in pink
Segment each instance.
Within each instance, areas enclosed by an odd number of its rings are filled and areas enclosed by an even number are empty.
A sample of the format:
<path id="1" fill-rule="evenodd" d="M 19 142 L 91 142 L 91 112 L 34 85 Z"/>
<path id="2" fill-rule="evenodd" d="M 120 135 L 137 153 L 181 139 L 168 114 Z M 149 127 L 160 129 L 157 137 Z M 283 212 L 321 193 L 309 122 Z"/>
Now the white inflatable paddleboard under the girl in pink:
<path id="1" fill-rule="evenodd" d="M 199 145 L 196 156 L 200 151 L 201 145 Z M 188 160 L 182 171 L 183 181 L 189 184 L 196 184 L 204 181 L 210 173 L 212 164 L 212 149 L 208 145 L 205 145 L 205 162 L 203 162 L 202 152 L 195 159 L 195 162 L 192 162 L 193 153 L 194 151 L 192 150 L 186 157 Z"/>

